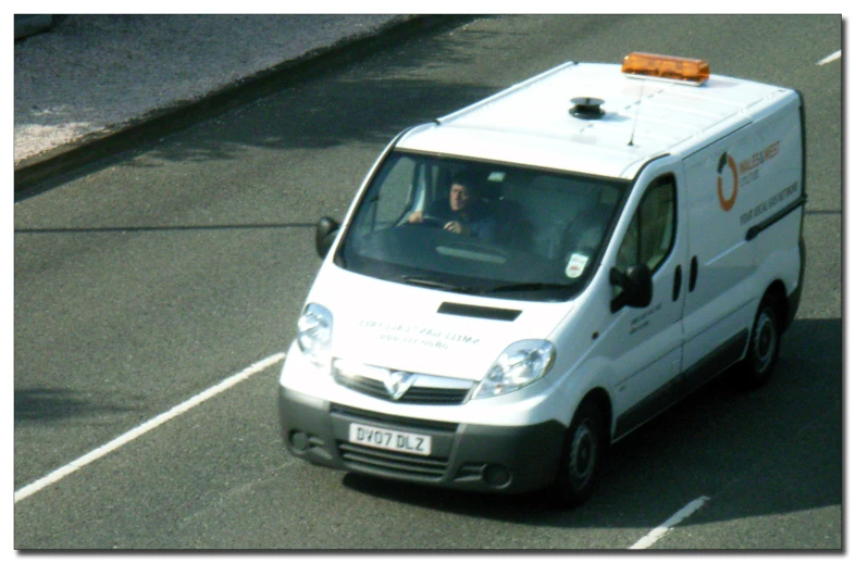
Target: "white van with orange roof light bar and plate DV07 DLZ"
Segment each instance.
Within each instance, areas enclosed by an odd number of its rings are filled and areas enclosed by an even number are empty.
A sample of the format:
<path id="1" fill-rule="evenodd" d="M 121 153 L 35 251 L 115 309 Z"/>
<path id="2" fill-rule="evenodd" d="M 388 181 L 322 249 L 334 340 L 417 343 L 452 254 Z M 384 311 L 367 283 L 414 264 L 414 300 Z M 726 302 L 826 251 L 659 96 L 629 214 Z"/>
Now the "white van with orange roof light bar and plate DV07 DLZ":
<path id="1" fill-rule="evenodd" d="M 383 152 L 280 379 L 289 452 L 476 491 L 591 493 L 711 377 L 762 385 L 801 297 L 798 92 L 633 53 L 568 63 Z"/>

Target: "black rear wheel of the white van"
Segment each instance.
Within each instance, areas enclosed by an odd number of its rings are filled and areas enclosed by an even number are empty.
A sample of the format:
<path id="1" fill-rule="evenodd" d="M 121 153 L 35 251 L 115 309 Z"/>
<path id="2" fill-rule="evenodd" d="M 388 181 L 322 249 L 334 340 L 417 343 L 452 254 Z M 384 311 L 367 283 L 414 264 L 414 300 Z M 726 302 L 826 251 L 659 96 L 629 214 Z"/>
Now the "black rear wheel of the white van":
<path id="1" fill-rule="evenodd" d="M 765 297 L 755 314 L 746 358 L 734 374 L 737 389 L 757 390 L 770 380 L 782 348 L 781 327 L 776 301 Z"/>

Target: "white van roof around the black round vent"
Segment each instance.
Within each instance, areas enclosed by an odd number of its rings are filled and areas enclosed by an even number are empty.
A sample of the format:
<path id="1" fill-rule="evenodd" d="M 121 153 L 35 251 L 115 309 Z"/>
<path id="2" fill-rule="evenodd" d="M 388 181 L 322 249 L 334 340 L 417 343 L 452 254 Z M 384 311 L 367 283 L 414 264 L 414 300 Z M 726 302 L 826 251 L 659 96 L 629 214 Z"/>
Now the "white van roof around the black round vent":
<path id="1" fill-rule="evenodd" d="M 718 75 L 691 86 L 628 76 L 618 64 L 566 63 L 411 129 L 397 146 L 632 179 L 648 160 L 694 152 L 789 93 Z M 575 98 L 603 100 L 603 116 L 571 115 Z"/>

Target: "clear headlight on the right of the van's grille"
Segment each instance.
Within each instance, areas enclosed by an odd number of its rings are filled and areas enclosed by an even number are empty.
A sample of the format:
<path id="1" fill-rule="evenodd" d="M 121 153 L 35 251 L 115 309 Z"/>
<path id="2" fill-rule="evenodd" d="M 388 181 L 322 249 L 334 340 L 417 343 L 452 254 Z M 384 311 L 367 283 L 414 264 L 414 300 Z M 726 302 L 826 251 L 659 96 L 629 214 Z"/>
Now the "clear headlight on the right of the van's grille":
<path id="1" fill-rule="evenodd" d="M 472 399 L 493 398 L 519 390 L 543 377 L 556 361 L 550 341 L 528 339 L 510 344 L 487 371 Z"/>

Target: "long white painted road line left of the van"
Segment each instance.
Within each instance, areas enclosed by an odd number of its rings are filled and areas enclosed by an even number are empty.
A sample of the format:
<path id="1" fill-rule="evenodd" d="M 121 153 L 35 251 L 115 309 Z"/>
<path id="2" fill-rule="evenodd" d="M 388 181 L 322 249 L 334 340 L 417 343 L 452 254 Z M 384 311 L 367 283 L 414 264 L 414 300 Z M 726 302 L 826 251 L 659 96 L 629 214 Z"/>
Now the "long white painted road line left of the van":
<path id="1" fill-rule="evenodd" d="M 73 472 L 76 472 L 76 471 L 83 468 L 87 464 L 97 461 L 98 459 L 104 456 L 106 454 L 108 454 L 108 453 L 119 449 L 120 447 L 131 442 L 132 440 L 138 438 L 139 436 L 144 435 L 145 433 L 148 433 L 151 429 L 153 429 L 156 427 L 159 427 L 160 425 L 163 425 L 164 423 L 166 423 L 168 421 L 172 419 L 173 417 L 176 417 L 176 416 L 181 415 L 182 413 L 184 413 L 184 412 L 186 412 L 186 411 L 188 411 L 188 410 L 199 405 L 203 401 L 213 398 L 218 393 L 227 390 L 228 388 L 235 386 L 236 384 L 238 384 L 238 383 L 240 383 L 243 380 L 246 380 L 247 378 L 249 378 L 253 374 L 256 374 L 258 372 L 261 372 L 261 371 L 263 371 L 263 369 L 265 369 L 265 368 L 276 364 L 277 362 L 280 362 L 283 359 L 285 359 L 285 353 L 282 353 L 282 352 L 278 353 L 278 354 L 274 354 L 272 356 L 268 356 L 266 359 L 261 360 L 261 361 L 257 362 L 256 364 L 252 364 L 251 366 L 248 366 L 248 367 L 244 368 L 243 371 L 240 371 L 239 373 L 235 374 L 234 376 L 229 376 L 228 378 L 226 378 L 225 380 L 221 381 L 216 386 L 213 386 L 213 387 L 208 388 L 207 390 L 204 390 L 204 391 L 202 391 L 200 393 L 197 393 L 196 396 L 194 396 L 189 400 L 187 400 L 187 401 L 185 401 L 183 403 L 179 403 L 175 408 L 171 409 L 170 411 L 168 411 L 165 413 L 162 413 L 162 414 L 158 415 L 153 419 L 149 419 L 147 423 L 144 423 L 142 425 L 131 429 L 129 431 L 125 433 L 124 435 L 121 435 L 120 437 L 116 437 L 115 439 L 113 439 L 112 441 L 108 442 L 107 444 L 104 444 L 102 447 L 99 447 L 96 450 L 89 452 L 88 454 L 84 454 L 79 459 L 77 459 L 77 460 L 75 460 L 73 462 L 70 462 L 65 466 L 51 472 L 50 474 L 48 474 L 44 478 L 40 478 L 40 479 L 34 481 L 33 484 L 30 484 L 28 486 L 24 486 L 23 488 L 21 488 L 20 490 L 17 490 L 15 492 L 15 503 L 17 503 L 18 501 L 21 501 L 21 500 L 23 500 L 25 498 L 28 498 L 29 496 L 36 493 L 37 491 L 41 490 L 42 488 L 46 488 L 46 487 L 50 486 L 51 484 L 55 484 L 55 482 L 60 481 L 62 478 L 64 478 L 69 474 L 72 474 Z"/>

